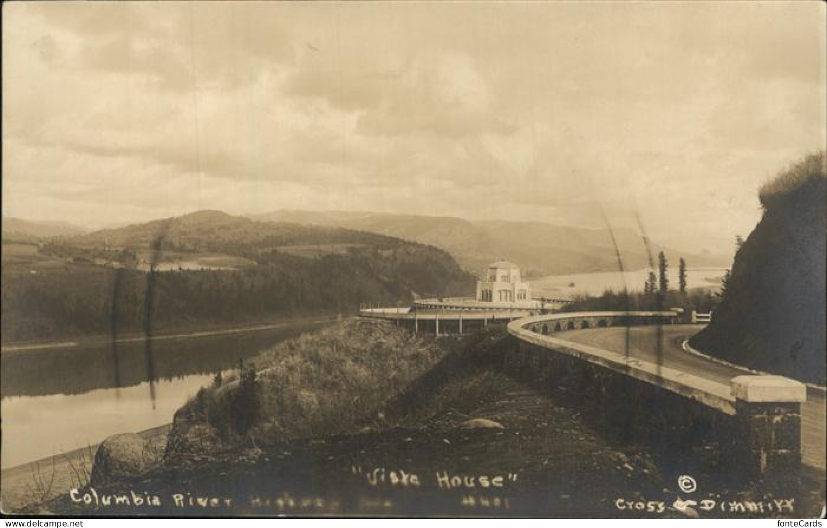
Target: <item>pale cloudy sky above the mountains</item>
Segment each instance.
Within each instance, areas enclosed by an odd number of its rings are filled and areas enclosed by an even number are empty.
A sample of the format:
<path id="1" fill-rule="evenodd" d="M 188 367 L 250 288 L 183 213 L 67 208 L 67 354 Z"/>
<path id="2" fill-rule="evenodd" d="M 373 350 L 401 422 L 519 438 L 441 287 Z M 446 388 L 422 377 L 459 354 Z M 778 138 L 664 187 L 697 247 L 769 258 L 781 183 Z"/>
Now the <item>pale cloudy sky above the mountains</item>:
<path id="1" fill-rule="evenodd" d="M 825 4 L 3 5 L 5 216 L 279 208 L 748 234 L 825 145 Z"/>

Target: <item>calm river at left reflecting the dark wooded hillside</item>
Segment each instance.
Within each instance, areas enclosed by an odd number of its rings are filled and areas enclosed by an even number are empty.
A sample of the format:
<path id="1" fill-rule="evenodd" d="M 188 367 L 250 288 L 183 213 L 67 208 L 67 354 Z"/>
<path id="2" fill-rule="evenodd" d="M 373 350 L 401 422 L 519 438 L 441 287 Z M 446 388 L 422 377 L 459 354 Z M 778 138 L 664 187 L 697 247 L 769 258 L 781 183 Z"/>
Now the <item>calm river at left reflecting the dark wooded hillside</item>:
<path id="1" fill-rule="evenodd" d="M 2 468 L 170 423 L 215 373 L 330 321 L 152 342 L 107 342 L 2 353 Z M 117 368 L 116 368 L 117 365 Z M 154 397 L 153 397 L 154 396 Z"/>

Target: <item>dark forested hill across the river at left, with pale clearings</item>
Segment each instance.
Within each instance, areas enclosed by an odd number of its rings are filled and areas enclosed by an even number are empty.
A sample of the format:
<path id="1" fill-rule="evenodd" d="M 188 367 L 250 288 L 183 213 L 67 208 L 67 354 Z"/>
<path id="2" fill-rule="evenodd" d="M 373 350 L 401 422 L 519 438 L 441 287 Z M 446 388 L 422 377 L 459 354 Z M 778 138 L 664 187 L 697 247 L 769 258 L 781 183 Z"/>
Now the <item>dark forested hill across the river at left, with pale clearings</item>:
<path id="1" fill-rule="evenodd" d="M 415 296 L 473 292 L 473 278 L 437 248 L 218 212 L 99 231 L 78 244 L 45 245 L 39 254 L 14 258 L 4 254 L 3 342 L 269 321 L 352 312 L 363 302 L 396 305 Z M 294 244 L 343 244 L 347 250 L 301 257 L 277 249 Z M 131 260 L 146 245 L 155 248 L 150 258 L 198 248 L 244 257 L 252 265 L 142 271 Z M 92 257 L 102 254 L 112 260 L 93 264 Z"/>

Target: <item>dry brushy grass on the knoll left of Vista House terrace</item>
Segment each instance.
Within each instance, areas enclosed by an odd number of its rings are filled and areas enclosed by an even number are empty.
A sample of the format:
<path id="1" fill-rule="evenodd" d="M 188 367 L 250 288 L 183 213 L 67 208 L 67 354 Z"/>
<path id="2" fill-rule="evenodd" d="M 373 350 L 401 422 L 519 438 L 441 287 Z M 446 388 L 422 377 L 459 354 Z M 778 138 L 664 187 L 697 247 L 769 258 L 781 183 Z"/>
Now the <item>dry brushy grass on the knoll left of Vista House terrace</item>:
<path id="1" fill-rule="evenodd" d="M 259 442 L 351 432 L 442 358 L 443 350 L 390 324 L 345 321 L 284 341 L 252 359 L 256 377 L 256 423 L 246 433 Z M 210 423 L 232 411 L 236 376 L 189 402 Z M 237 407 L 237 406 L 236 406 Z"/>

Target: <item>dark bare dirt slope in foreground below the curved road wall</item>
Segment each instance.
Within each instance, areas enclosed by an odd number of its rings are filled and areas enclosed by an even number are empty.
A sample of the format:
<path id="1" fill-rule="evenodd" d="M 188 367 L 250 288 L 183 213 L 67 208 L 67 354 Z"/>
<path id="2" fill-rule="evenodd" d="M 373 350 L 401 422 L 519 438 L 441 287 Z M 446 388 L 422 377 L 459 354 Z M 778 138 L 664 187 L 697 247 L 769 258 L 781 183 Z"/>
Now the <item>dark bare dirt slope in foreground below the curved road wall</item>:
<path id="1" fill-rule="evenodd" d="M 492 331 L 447 343 L 453 350 L 378 402 L 356 432 L 171 457 L 151 473 L 45 507 L 79 515 L 634 517 L 809 516 L 820 508 L 823 490 L 811 481 L 744 482 L 700 471 L 689 454 L 664 459 L 618 440 L 591 417 L 599 397 L 584 403 L 576 384 L 549 391 L 506 375 L 509 338 Z M 686 468 L 694 495 L 677 487 Z M 744 510 L 705 511 L 701 500 Z"/>

